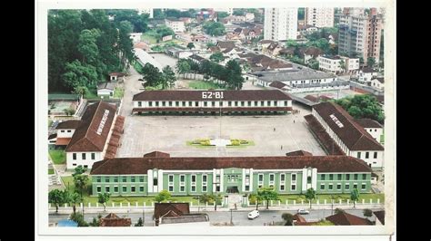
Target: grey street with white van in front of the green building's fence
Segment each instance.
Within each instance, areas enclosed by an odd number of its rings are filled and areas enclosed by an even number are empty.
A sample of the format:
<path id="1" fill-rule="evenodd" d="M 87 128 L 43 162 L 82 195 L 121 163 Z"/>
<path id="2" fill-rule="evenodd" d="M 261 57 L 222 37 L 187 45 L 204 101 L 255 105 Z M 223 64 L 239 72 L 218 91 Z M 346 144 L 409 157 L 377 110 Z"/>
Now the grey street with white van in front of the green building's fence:
<path id="1" fill-rule="evenodd" d="M 270 223 L 283 221 L 281 215 L 285 212 L 290 212 L 291 214 L 295 214 L 292 211 L 275 211 L 275 210 L 265 210 L 265 207 L 261 207 L 259 209 L 260 217 L 256 217 L 253 220 L 249 220 L 247 218 L 248 211 L 232 211 L 232 221 L 235 226 L 265 226 Z M 376 210 L 373 210 L 376 211 Z M 202 213 L 203 211 L 201 211 Z M 356 215 L 358 217 L 363 216 L 362 209 L 346 209 L 346 212 Z M 222 224 L 222 223 L 230 223 L 231 213 L 229 211 L 204 211 L 203 213 L 208 214 L 211 225 Z M 107 212 L 104 213 L 103 216 L 106 216 Z M 118 217 L 130 217 L 132 218 L 132 224 L 135 224 L 139 217 L 142 217 L 142 214 L 128 214 L 128 213 L 117 213 Z M 332 210 L 311 210 L 309 215 L 303 215 L 306 218 L 306 221 L 318 221 L 322 218 L 328 217 L 332 215 Z M 55 223 L 59 220 L 66 219 L 68 215 L 49 215 L 49 223 Z M 91 222 L 93 217 L 97 217 L 97 214 L 85 214 L 85 221 Z M 371 220 L 373 217 L 371 217 Z M 154 226 L 153 221 L 153 212 L 145 212 L 145 226 Z"/>

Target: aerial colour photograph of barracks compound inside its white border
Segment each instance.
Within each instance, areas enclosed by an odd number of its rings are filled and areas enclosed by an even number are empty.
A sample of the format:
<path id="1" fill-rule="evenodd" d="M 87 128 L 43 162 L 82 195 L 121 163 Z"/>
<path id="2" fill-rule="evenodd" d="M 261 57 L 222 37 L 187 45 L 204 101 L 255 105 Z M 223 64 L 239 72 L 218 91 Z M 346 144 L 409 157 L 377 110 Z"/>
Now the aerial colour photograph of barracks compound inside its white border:
<path id="1" fill-rule="evenodd" d="M 47 228 L 385 226 L 385 10 L 49 9 Z"/>

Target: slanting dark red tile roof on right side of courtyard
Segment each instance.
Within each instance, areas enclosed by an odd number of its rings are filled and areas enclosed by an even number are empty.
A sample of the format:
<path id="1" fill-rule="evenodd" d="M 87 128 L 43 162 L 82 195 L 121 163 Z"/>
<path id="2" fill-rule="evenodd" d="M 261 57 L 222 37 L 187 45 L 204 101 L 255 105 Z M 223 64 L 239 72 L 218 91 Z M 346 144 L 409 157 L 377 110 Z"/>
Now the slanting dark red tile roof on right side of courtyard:
<path id="1" fill-rule="evenodd" d="M 313 109 L 326 122 L 336 136 L 350 150 L 384 150 L 363 127 L 356 123 L 352 116 L 334 102 L 321 102 Z M 332 116 L 332 117 L 331 117 Z M 341 123 L 342 126 L 337 124 Z"/>

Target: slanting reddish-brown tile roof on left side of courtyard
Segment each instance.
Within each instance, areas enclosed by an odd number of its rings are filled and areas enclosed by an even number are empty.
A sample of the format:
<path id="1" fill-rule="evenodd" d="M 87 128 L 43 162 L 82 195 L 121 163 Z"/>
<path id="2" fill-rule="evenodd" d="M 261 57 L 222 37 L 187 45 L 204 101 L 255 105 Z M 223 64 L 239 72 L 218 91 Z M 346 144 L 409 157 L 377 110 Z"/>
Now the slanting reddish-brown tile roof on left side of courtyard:
<path id="1" fill-rule="evenodd" d="M 115 111 L 115 105 L 104 101 L 89 105 L 65 151 L 103 151 Z"/>

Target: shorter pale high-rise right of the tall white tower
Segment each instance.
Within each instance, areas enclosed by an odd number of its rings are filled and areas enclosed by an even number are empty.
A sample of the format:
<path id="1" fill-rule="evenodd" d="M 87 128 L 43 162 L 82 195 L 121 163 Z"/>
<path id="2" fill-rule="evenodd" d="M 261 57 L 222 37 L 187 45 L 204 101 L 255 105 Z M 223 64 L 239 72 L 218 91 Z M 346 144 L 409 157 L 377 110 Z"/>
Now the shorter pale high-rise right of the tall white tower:
<path id="1" fill-rule="evenodd" d="M 333 7 L 306 7 L 306 24 L 318 28 L 334 26 Z"/>

